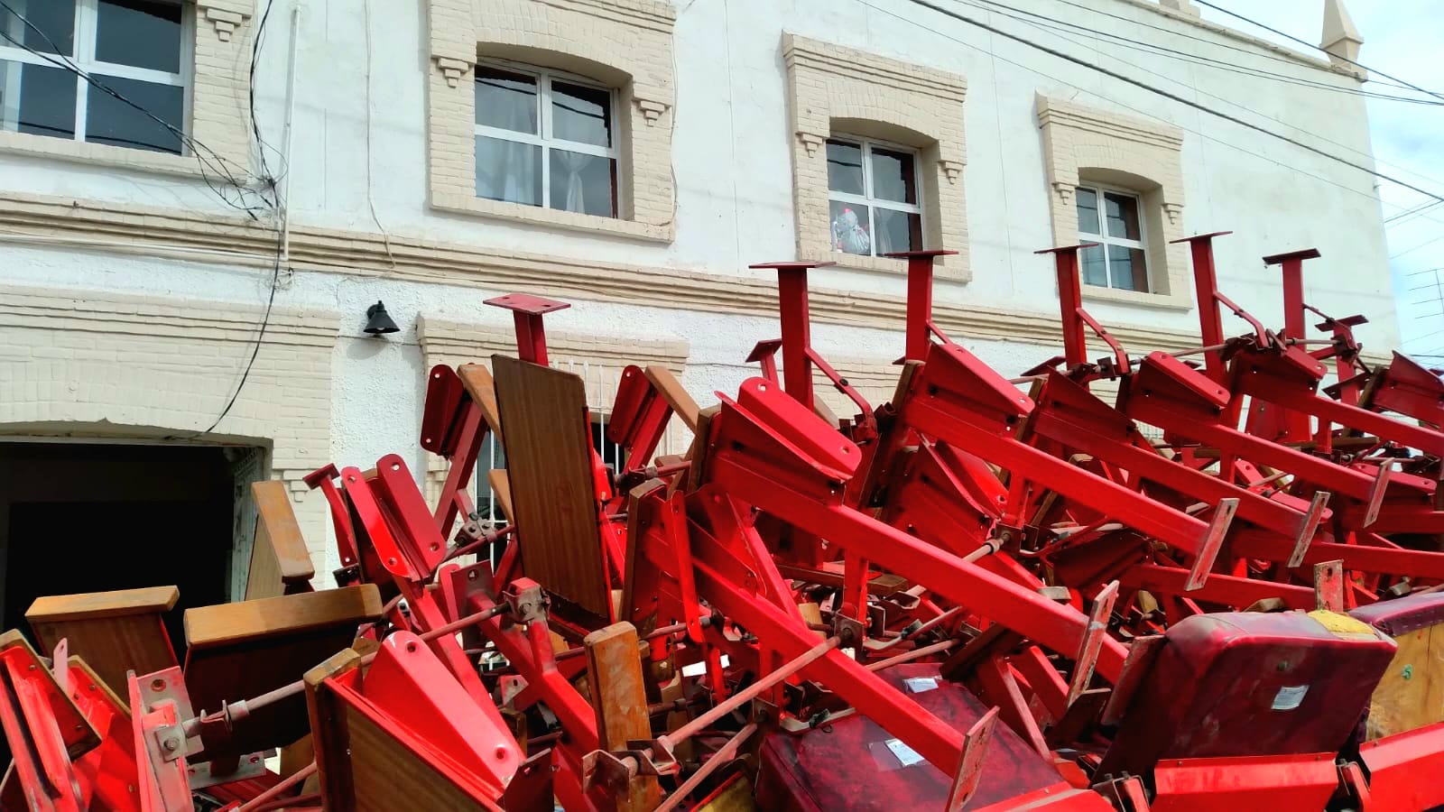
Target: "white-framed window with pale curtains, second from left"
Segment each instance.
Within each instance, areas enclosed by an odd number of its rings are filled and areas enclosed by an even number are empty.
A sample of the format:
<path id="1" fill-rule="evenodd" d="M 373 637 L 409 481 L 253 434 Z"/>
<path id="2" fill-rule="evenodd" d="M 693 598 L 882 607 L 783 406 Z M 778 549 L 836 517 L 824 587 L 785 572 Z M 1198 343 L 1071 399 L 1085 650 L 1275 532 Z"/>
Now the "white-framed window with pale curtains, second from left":
<path id="1" fill-rule="evenodd" d="M 617 104 L 563 74 L 477 65 L 477 196 L 617 217 Z"/>

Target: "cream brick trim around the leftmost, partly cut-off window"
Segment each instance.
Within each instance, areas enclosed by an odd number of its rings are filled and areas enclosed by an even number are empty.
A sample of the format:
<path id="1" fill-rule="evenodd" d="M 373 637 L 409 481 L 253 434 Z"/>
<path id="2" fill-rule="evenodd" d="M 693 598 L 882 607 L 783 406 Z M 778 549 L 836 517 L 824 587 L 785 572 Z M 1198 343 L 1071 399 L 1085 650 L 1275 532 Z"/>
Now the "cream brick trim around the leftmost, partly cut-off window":
<path id="1" fill-rule="evenodd" d="M 250 175 L 250 69 L 256 0 L 183 0 L 195 7 L 189 134 L 237 178 Z M 193 155 L 169 155 L 30 133 L 0 133 L 0 152 L 183 178 L 215 176 Z M 215 162 L 215 157 L 209 157 Z"/>

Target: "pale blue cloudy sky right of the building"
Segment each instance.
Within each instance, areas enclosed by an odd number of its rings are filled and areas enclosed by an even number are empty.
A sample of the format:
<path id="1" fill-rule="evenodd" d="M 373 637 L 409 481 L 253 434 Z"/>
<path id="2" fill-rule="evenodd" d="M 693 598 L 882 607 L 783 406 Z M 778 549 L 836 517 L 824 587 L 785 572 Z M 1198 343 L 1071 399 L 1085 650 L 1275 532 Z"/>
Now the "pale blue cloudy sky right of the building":
<path id="1" fill-rule="evenodd" d="M 1252 20 L 1318 42 L 1324 0 L 1210 0 Z M 1391 95 L 1437 98 L 1395 87 L 1382 71 L 1408 84 L 1444 95 L 1444 3 L 1440 0 L 1344 0 L 1363 38 L 1359 62 L 1372 69 L 1365 90 Z M 1200 7 L 1203 17 L 1305 51 L 1269 32 L 1222 12 Z M 1318 55 L 1320 52 L 1313 51 Z M 1444 196 L 1444 101 L 1440 105 L 1370 98 L 1369 130 L 1375 168 Z M 1427 366 L 1444 367 L 1444 204 L 1379 182 L 1389 243 L 1389 270 L 1398 296 L 1402 350 Z"/>

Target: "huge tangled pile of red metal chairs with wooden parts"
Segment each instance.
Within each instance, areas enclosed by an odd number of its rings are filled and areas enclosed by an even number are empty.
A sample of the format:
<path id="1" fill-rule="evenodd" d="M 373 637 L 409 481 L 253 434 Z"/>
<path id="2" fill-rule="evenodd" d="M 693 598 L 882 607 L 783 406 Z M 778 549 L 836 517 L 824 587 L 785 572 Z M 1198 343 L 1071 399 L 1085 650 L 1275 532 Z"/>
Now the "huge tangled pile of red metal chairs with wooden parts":
<path id="1" fill-rule="evenodd" d="M 183 669 L 127 652 L 129 707 L 66 665 L 116 660 L 53 639 L 69 608 L 32 610 L 51 659 L 0 639 L 0 800 L 1444 805 L 1444 381 L 1402 355 L 1369 366 L 1363 319 L 1304 301 L 1317 251 L 1265 257 L 1285 293 L 1266 327 L 1219 290 L 1216 237 L 1188 240 L 1203 345 L 1141 358 L 1083 308 L 1083 246 L 1047 251 L 1063 354 L 1018 376 L 933 322 L 940 251 L 900 254 L 882 405 L 812 347 L 819 263 L 755 266 L 777 272 L 781 327 L 749 355 L 760 374 L 700 407 L 666 368 L 628 367 L 605 422 L 617 465 L 582 379 L 549 366 L 543 321 L 567 305 L 492 299 L 517 357 L 429 373 L 420 442 L 449 464 L 435 504 L 397 455 L 312 475 L 336 589 L 287 581 L 289 506 L 263 503 L 279 594 L 191 610 Z M 819 377 L 856 412 L 832 416 Z M 657 454 L 669 431 L 690 433 L 684 455 Z M 488 435 L 505 523 L 471 496 Z M 221 679 L 235 652 L 264 679 Z M 280 767 L 243 776 L 270 747 Z"/>

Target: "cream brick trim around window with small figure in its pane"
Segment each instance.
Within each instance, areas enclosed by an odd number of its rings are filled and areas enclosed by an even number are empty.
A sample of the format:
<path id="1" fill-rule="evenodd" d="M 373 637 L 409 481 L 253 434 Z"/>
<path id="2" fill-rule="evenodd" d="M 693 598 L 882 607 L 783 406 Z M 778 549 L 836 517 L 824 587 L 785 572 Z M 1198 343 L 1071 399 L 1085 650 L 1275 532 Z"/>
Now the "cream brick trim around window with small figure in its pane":
<path id="1" fill-rule="evenodd" d="M 832 250 L 826 142 L 848 136 L 872 139 L 917 150 L 923 247 L 957 251 L 941 257 L 937 272 L 943 279 L 966 282 L 970 277 L 963 195 L 966 79 L 790 32 L 783 35 L 783 61 L 793 130 L 797 257 L 861 270 L 907 270 L 902 260 Z"/>

